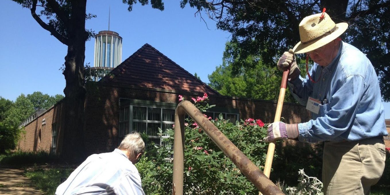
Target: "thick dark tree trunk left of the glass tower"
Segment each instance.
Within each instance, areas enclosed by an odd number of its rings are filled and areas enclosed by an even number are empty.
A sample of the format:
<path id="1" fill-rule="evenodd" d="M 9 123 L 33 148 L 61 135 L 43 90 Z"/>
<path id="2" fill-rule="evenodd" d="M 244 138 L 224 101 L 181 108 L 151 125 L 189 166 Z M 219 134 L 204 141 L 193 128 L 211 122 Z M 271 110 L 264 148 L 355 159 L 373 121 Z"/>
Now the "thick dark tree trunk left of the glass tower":
<path id="1" fill-rule="evenodd" d="M 84 102 L 85 78 L 84 59 L 85 41 L 88 33 L 85 31 L 86 0 L 72 0 L 72 14 L 69 21 L 69 44 L 65 57 L 64 76 L 66 80 L 65 112 L 63 128 L 64 138 L 61 157 L 66 161 L 80 161 L 85 158 L 84 147 Z"/>

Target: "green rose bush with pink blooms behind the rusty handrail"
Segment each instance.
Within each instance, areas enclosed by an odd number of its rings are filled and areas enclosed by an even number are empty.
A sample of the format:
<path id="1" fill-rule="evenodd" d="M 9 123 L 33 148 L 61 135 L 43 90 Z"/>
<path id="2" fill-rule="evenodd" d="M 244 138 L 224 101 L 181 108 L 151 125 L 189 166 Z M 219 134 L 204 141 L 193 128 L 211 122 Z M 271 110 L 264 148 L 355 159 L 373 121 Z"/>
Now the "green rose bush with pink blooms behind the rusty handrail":
<path id="1" fill-rule="evenodd" d="M 206 109 L 207 105 L 200 110 Z M 211 121 L 255 165 L 258 167 L 264 165 L 267 148 L 266 144 L 260 141 L 266 135 L 264 127 L 257 125 L 253 119 L 232 124 L 224 120 L 222 115 Z M 185 128 L 184 141 L 184 193 L 259 193 L 202 129 L 191 119 L 186 119 L 186 123 L 188 125 Z M 163 140 L 163 145 L 152 151 L 153 155 L 145 155 L 146 157 L 136 164 L 146 194 L 172 193 L 173 164 L 168 157 L 173 152 L 170 146 L 173 144 L 174 131 L 172 129 L 168 129 L 167 132 L 160 131 L 160 135 L 165 133 L 170 137 Z"/>

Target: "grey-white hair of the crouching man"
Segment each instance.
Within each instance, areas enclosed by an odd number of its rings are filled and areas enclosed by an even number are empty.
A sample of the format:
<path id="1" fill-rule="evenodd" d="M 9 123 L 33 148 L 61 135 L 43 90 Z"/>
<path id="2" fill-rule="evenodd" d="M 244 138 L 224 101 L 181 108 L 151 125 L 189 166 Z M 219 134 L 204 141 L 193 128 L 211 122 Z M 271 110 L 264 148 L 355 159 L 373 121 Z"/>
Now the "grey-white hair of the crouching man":
<path id="1" fill-rule="evenodd" d="M 142 140 L 140 133 L 132 132 L 123 138 L 121 145 L 119 145 L 118 148 L 120 150 L 127 150 L 134 155 L 139 153 L 143 154 L 145 151 L 145 143 L 144 140 Z"/>

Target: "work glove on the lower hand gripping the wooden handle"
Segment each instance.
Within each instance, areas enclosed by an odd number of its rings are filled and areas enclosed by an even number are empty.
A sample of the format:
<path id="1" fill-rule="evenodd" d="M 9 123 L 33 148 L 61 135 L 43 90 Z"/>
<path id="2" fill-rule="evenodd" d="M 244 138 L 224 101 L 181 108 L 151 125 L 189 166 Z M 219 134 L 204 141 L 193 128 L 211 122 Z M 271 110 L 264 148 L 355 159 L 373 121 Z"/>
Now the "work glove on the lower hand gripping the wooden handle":
<path id="1" fill-rule="evenodd" d="M 263 138 L 264 142 L 272 142 L 278 139 L 294 139 L 299 135 L 298 124 L 285 124 L 284 122 L 273 122 L 268 125 L 268 136 Z"/>

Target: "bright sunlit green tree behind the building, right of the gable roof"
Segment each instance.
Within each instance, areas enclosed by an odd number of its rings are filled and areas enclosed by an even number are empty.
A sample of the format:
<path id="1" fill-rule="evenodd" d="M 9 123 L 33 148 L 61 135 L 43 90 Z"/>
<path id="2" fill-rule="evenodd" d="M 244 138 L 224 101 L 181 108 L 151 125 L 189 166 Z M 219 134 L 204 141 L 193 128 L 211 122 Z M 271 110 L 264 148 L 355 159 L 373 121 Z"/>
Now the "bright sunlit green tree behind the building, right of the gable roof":
<path id="1" fill-rule="evenodd" d="M 223 52 L 222 65 L 209 74 L 209 85 L 224 96 L 247 97 L 277 101 L 281 73 L 274 67 L 262 63 L 261 57 L 248 55 L 245 60 L 238 58 L 242 49 L 238 44 L 227 42 Z M 232 64 L 239 63 L 238 73 L 233 73 Z M 303 74 L 305 74 L 303 72 Z M 286 91 L 285 101 L 295 102 Z"/>

